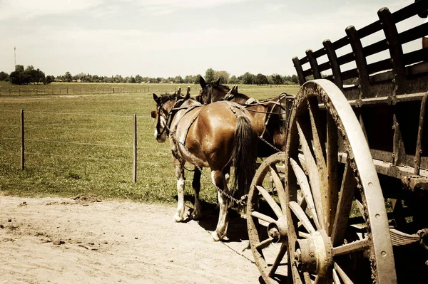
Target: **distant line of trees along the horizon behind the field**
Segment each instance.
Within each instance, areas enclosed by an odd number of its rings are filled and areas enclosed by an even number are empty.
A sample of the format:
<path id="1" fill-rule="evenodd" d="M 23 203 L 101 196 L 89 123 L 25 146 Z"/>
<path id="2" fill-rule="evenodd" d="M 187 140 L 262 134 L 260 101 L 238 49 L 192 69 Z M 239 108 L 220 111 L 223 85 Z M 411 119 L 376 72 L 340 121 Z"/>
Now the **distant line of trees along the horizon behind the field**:
<path id="1" fill-rule="evenodd" d="M 51 82 L 76 82 L 76 83 L 176 83 L 176 84 L 198 84 L 200 74 L 197 75 L 186 75 L 184 78 L 180 75 L 175 77 L 168 78 L 151 78 L 143 77 L 141 75 L 135 76 L 126 76 L 122 75 L 111 75 L 111 76 L 100 76 L 100 75 L 91 75 L 89 73 L 78 73 L 76 75 L 71 75 L 70 72 L 66 72 L 64 75 L 56 76 L 47 75 L 39 70 L 35 69 L 32 65 L 29 65 L 24 69 L 23 65 L 16 65 L 15 71 L 10 75 L 3 71 L 0 72 L 0 81 L 8 81 L 12 84 L 49 84 Z M 227 71 L 213 70 L 213 68 L 208 68 L 205 71 L 205 81 L 214 82 L 221 79 L 223 84 L 248 84 L 248 85 L 292 85 L 298 84 L 299 80 L 297 75 L 264 75 L 258 73 L 254 75 L 250 72 L 247 72 L 240 76 L 235 76 L 230 74 Z"/>

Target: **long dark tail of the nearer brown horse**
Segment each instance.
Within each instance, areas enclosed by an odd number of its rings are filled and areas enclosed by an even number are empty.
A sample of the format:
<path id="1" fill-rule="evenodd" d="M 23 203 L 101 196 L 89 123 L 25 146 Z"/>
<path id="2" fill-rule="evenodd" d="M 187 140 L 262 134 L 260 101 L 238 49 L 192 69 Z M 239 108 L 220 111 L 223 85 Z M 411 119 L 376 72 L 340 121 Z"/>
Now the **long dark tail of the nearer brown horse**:
<path id="1" fill-rule="evenodd" d="M 258 135 L 248 115 L 238 115 L 232 152 L 232 159 L 235 164 L 235 181 L 233 184 L 235 196 L 240 197 L 248 194 L 255 174 L 257 143 Z"/>

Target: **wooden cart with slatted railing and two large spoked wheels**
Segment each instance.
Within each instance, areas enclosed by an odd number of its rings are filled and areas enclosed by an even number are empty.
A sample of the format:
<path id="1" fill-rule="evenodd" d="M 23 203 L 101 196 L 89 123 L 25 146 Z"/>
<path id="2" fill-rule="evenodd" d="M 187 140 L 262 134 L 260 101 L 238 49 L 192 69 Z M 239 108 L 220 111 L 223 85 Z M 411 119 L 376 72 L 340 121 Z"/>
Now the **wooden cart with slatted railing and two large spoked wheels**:
<path id="1" fill-rule="evenodd" d="M 378 21 L 292 58 L 301 88 L 287 150 L 263 162 L 248 196 L 266 283 L 428 281 L 428 48 L 402 48 L 422 41 L 428 23 L 396 25 L 427 9 L 428 1 L 382 8 Z M 377 32 L 384 39 L 363 46 Z M 370 62 L 382 51 L 389 58 Z"/>

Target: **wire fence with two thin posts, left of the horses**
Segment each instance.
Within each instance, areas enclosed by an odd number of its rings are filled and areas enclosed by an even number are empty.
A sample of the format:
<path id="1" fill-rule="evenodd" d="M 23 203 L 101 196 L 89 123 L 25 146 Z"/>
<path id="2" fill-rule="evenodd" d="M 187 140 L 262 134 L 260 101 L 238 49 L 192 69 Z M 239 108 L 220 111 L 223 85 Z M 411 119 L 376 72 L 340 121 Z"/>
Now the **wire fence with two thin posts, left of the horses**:
<path id="1" fill-rule="evenodd" d="M 49 118 L 40 117 L 41 115 L 49 115 Z M 75 127 L 68 121 L 55 125 L 58 120 L 56 115 L 71 115 L 73 122 L 78 117 L 89 117 L 91 121 L 87 123 L 86 129 L 80 124 Z M 9 113 L 7 116 L 9 117 Z M 0 125 L 0 164 L 14 169 L 83 172 L 83 175 L 92 176 L 100 174 L 101 177 L 136 182 L 138 175 L 143 175 L 146 168 L 153 170 L 153 167 L 170 167 L 171 164 L 168 143 L 156 143 L 151 133 L 153 142 L 145 141 L 148 137 L 145 125 L 151 118 L 148 115 L 139 116 L 140 122 L 145 123 L 138 125 L 133 117 L 134 115 L 37 111 L 26 111 L 24 117 L 22 110 L 20 119 L 14 120 L 16 124 Z M 105 123 L 105 119 L 111 118 L 115 124 L 113 130 L 109 129 L 111 125 Z M 94 129 L 94 122 L 99 122 L 104 127 Z M 140 154 L 137 156 L 136 153 Z M 160 177 L 153 174 L 148 176 L 153 180 L 175 179 L 173 171 L 169 169 L 168 172 L 170 175 L 167 177 L 165 174 Z"/>

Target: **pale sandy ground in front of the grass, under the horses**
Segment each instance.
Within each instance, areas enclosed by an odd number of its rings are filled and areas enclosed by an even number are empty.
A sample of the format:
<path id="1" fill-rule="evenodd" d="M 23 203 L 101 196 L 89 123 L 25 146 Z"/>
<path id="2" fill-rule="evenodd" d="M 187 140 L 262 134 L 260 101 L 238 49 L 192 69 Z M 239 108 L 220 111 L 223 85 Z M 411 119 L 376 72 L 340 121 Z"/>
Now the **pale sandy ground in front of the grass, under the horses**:
<path id="1" fill-rule="evenodd" d="M 174 206 L 0 196 L 0 283 L 259 283 L 245 220 L 214 242 L 217 214 Z"/>

